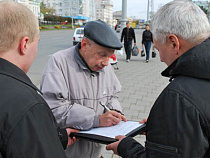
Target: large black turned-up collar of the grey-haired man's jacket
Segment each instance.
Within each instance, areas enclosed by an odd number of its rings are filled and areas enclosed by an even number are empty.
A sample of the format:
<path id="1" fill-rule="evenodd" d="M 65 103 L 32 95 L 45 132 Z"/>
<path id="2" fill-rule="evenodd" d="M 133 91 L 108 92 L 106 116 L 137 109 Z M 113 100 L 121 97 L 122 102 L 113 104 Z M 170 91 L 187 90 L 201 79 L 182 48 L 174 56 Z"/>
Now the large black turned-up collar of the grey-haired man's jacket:
<path id="1" fill-rule="evenodd" d="M 189 49 L 161 74 L 165 77 L 188 76 L 210 80 L 210 38 Z"/>

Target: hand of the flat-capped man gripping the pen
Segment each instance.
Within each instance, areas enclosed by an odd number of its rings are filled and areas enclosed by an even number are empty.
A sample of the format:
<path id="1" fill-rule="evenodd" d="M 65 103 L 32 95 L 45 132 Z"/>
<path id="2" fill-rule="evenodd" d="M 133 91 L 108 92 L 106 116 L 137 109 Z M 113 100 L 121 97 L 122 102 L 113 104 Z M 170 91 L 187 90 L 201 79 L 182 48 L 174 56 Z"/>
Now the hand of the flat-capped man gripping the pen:
<path id="1" fill-rule="evenodd" d="M 100 115 L 99 126 L 109 127 L 117 125 L 120 121 L 127 121 L 125 116 L 116 111 L 107 111 L 106 113 Z"/>

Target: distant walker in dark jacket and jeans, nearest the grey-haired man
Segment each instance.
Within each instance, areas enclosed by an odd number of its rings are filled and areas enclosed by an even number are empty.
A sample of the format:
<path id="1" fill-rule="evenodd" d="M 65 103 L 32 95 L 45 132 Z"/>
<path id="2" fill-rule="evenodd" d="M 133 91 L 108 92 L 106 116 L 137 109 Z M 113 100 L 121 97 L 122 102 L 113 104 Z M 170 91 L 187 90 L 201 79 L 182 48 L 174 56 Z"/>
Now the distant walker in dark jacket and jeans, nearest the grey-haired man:
<path id="1" fill-rule="evenodd" d="M 149 24 L 146 25 L 146 30 L 142 34 L 142 48 L 145 47 L 146 50 L 146 62 L 149 62 L 150 48 L 153 43 L 152 32 L 149 29 Z"/>

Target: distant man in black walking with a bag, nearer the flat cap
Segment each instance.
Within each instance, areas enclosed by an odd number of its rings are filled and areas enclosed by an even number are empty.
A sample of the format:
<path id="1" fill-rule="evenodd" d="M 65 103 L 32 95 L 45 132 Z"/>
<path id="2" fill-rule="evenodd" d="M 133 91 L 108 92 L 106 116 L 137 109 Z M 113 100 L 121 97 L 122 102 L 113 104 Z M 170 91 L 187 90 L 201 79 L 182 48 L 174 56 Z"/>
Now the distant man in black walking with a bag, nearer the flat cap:
<path id="1" fill-rule="evenodd" d="M 134 40 L 134 46 L 136 45 L 136 36 L 134 29 L 130 27 L 129 22 L 126 22 L 126 27 L 122 31 L 121 42 L 124 38 L 124 48 L 126 53 L 126 61 L 130 62 L 131 50 L 132 50 L 132 40 Z"/>

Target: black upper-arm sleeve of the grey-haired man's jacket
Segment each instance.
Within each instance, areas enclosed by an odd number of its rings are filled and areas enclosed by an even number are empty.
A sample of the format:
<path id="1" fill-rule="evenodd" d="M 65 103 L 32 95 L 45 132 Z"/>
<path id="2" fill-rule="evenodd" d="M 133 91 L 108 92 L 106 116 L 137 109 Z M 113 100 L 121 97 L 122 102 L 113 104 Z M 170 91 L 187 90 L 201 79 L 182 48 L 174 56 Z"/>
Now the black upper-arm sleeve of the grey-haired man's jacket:
<path id="1" fill-rule="evenodd" d="M 174 88 L 173 88 L 174 89 Z M 147 121 L 146 153 L 150 158 L 202 157 L 209 148 L 207 120 L 193 98 L 164 90 Z"/>

